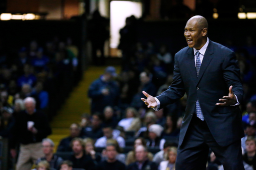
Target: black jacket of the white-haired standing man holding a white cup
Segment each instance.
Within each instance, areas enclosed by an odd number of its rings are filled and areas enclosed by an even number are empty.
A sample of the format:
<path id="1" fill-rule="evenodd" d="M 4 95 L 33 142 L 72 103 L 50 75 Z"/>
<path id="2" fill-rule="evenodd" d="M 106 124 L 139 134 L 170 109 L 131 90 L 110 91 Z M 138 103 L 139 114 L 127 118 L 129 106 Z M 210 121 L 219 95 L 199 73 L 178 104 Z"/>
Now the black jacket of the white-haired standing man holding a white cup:
<path id="1" fill-rule="evenodd" d="M 36 134 L 27 130 L 28 121 L 34 122 L 34 128 L 37 130 Z M 51 128 L 43 112 L 35 110 L 32 115 L 28 115 L 26 111 L 22 111 L 17 114 L 11 132 L 13 138 L 10 140 L 10 148 L 15 148 L 17 142 L 23 145 L 42 142 L 42 139 L 51 134 Z"/>

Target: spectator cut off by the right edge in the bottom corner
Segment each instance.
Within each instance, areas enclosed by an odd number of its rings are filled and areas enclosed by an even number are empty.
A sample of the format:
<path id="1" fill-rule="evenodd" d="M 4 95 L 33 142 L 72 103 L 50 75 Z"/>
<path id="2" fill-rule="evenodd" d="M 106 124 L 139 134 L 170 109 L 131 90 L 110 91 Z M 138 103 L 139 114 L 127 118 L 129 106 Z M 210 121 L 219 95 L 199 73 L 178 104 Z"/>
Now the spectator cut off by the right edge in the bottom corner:
<path id="1" fill-rule="evenodd" d="M 243 161 L 256 168 L 256 140 L 254 137 L 249 136 L 245 141 L 246 152 L 243 155 Z"/>

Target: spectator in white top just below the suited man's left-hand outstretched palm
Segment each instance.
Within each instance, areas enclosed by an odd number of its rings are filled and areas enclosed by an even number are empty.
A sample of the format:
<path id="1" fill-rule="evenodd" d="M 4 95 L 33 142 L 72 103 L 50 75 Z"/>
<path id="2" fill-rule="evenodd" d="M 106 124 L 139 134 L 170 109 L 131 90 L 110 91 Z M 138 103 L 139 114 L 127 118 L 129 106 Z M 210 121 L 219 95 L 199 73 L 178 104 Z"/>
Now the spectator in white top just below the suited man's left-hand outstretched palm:
<path id="1" fill-rule="evenodd" d="M 119 121 L 118 126 L 123 127 L 124 131 L 135 131 L 137 132 L 141 127 L 138 112 L 129 107 L 126 109 L 126 118 Z"/>

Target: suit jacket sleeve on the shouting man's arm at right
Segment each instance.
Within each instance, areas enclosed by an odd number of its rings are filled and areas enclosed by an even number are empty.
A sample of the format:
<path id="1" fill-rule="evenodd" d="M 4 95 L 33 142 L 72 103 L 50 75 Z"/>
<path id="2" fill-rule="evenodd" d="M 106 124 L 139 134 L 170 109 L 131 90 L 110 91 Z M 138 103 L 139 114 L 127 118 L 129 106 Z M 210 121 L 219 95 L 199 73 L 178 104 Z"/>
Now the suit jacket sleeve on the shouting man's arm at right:
<path id="1" fill-rule="evenodd" d="M 232 85 L 233 93 L 240 103 L 243 98 L 243 88 L 240 79 L 240 70 L 237 65 L 235 53 L 232 51 L 225 58 L 222 64 L 223 78 L 228 87 Z"/>

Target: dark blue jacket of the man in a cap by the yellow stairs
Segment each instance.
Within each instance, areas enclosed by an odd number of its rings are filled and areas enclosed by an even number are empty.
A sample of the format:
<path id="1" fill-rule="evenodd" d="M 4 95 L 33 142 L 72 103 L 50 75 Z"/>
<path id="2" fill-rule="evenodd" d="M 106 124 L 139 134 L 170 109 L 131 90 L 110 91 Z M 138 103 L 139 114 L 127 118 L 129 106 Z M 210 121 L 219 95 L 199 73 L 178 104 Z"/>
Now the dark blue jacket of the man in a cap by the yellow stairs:
<path id="1" fill-rule="evenodd" d="M 108 89 L 109 95 L 102 95 L 102 89 Z M 91 113 L 102 112 L 106 106 L 114 107 L 117 105 L 119 88 L 115 81 L 104 82 L 102 77 L 100 77 L 90 85 L 88 96 L 92 99 Z"/>

